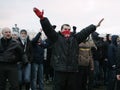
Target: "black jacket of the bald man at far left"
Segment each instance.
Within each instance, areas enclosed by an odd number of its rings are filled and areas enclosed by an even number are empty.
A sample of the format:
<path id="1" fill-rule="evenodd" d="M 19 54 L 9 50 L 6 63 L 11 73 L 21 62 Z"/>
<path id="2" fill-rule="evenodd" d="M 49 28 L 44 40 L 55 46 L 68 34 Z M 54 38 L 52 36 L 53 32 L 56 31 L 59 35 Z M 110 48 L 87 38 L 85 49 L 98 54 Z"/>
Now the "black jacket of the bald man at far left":
<path id="1" fill-rule="evenodd" d="M 0 39 L 0 63 L 17 63 L 19 60 L 26 63 L 27 58 L 16 40 L 12 38 Z"/>

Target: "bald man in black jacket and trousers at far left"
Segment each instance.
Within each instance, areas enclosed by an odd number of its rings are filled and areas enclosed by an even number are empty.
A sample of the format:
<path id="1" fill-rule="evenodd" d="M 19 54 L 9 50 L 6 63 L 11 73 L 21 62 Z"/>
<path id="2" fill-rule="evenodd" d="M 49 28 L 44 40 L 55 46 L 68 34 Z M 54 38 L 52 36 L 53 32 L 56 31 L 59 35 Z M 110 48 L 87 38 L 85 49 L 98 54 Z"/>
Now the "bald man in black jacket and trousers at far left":
<path id="1" fill-rule="evenodd" d="M 28 63 L 22 47 L 18 41 L 12 39 L 8 27 L 2 29 L 0 39 L 0 90 L 6 90 L 6 79 L 10 83 L 10 90 L 19 90 L 17 63 Z"/>

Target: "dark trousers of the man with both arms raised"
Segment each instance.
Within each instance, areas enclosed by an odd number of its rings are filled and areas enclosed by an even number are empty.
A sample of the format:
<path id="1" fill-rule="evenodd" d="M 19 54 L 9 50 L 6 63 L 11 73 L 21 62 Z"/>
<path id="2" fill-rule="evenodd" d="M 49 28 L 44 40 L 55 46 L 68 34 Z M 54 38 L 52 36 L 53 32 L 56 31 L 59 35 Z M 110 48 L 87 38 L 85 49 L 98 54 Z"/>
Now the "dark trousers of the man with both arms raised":
<path id="1" fill-rule="evenodd" d="M 53 90 L 76 90 L 76 72 L 54 72 Z"/>

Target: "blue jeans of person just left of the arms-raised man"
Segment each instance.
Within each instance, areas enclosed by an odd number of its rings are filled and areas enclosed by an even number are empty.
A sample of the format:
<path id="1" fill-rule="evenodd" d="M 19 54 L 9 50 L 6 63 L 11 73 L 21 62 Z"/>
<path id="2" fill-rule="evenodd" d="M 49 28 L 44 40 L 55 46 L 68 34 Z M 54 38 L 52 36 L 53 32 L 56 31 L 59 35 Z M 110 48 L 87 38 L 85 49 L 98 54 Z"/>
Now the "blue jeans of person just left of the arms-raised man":
<path id="1" fill-rule="evenodd" d="M 37 89 L 37 82 L 39 90 L 44 90 L 44 76 L 43 76 L 43 64 L 32 63 L 31 64 L 31 89 Z"/>

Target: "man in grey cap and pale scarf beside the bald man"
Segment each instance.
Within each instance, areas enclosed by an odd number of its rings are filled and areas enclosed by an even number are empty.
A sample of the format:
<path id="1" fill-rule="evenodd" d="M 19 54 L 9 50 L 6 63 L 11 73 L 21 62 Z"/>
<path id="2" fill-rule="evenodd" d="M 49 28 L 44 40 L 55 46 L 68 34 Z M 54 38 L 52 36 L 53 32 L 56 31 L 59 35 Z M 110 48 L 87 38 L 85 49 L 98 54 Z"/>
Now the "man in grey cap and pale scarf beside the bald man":
<path id="1" fill-rule="evenodd" d="M 25 86 L 26 90 L 30 89 L 30 80 L 31 80 L 31 61 L 33 59 L 33 51 L 32 51 L 32 44 L 27 34 L 27 30 L 22 29 L 20 31 L 20 37 L 18 38 L 20 46 L 23 49 L 23 52 L 26 54 L 28 58 L 28 63 L 24 66 L 19 63 L 18 64 L 18 76 L 19 76 L 19 85 L 20 90 L 22 87 Z"/>

